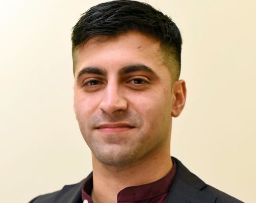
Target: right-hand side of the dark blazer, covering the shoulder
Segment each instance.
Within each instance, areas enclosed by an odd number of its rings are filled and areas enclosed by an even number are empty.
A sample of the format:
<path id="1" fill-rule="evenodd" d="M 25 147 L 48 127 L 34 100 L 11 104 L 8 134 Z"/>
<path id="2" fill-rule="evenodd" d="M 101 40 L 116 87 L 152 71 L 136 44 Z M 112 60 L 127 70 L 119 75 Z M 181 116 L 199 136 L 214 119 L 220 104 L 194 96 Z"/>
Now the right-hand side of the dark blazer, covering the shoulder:
<path id="1" fill-rule="evenodd" d="M 172 159 L 177 165 L 177 174 L 167 202 L 180 200 L 180 202 L 242 203 L 235 197 L 204 183 L 195 174 L 191 173 L 180 160 L 174 157 Z"/>

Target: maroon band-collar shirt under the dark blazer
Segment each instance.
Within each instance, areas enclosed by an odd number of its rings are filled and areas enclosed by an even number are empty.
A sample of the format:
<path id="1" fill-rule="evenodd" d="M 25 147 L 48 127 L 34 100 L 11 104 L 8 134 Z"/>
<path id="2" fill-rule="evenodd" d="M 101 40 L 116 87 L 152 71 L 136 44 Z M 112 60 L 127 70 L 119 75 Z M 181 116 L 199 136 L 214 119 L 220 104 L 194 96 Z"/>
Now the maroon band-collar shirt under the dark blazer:
<path id="1" fill-rule="evenodd" d="M 168 174 L 158 181 L 145 185 L 126 187 L 117 194 L 117 202 L 119 203 L 163 203 L 171 188 L 171 184 L 176 175 L 176 163 L 173 161 L 173 166 Z M 91 194 L 93 187 L 92 176 L 85 182 L 82 187 L 83 202 L 93 203 Z M 87 200 L 87 201 L 86 201 Z"/>

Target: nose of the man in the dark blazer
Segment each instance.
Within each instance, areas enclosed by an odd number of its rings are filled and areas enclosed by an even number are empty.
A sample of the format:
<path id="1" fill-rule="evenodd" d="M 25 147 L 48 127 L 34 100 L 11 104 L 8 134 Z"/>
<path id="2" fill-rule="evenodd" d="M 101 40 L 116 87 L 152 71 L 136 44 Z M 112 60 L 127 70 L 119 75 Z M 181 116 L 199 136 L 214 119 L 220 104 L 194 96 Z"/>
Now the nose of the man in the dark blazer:
<path id="1" fill-rule="evenodd" d="M 117 112 L 123 112 L 127 109 L 127 100 L 124 98 L 123 92 L 118 84 L 108 83 L 99 108 L 109 115 L 114 115 Z"/>

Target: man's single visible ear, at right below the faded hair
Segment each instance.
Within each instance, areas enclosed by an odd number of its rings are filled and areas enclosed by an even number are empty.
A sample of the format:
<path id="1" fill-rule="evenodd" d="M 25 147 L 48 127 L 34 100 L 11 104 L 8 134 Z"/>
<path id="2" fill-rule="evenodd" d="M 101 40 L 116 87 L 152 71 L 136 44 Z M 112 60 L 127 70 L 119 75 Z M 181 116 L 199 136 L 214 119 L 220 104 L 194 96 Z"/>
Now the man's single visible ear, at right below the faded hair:
<path id="1" fill-rule="evenodd" d="M 178 80 L 175 81 L 172 85 L 172 98 L 171 98 L 171 104 L 172 104 L 172 111 L 171 115 L 172 117 L 178 117 L 186 102 L 186 83 L 184 80 Z"/>

